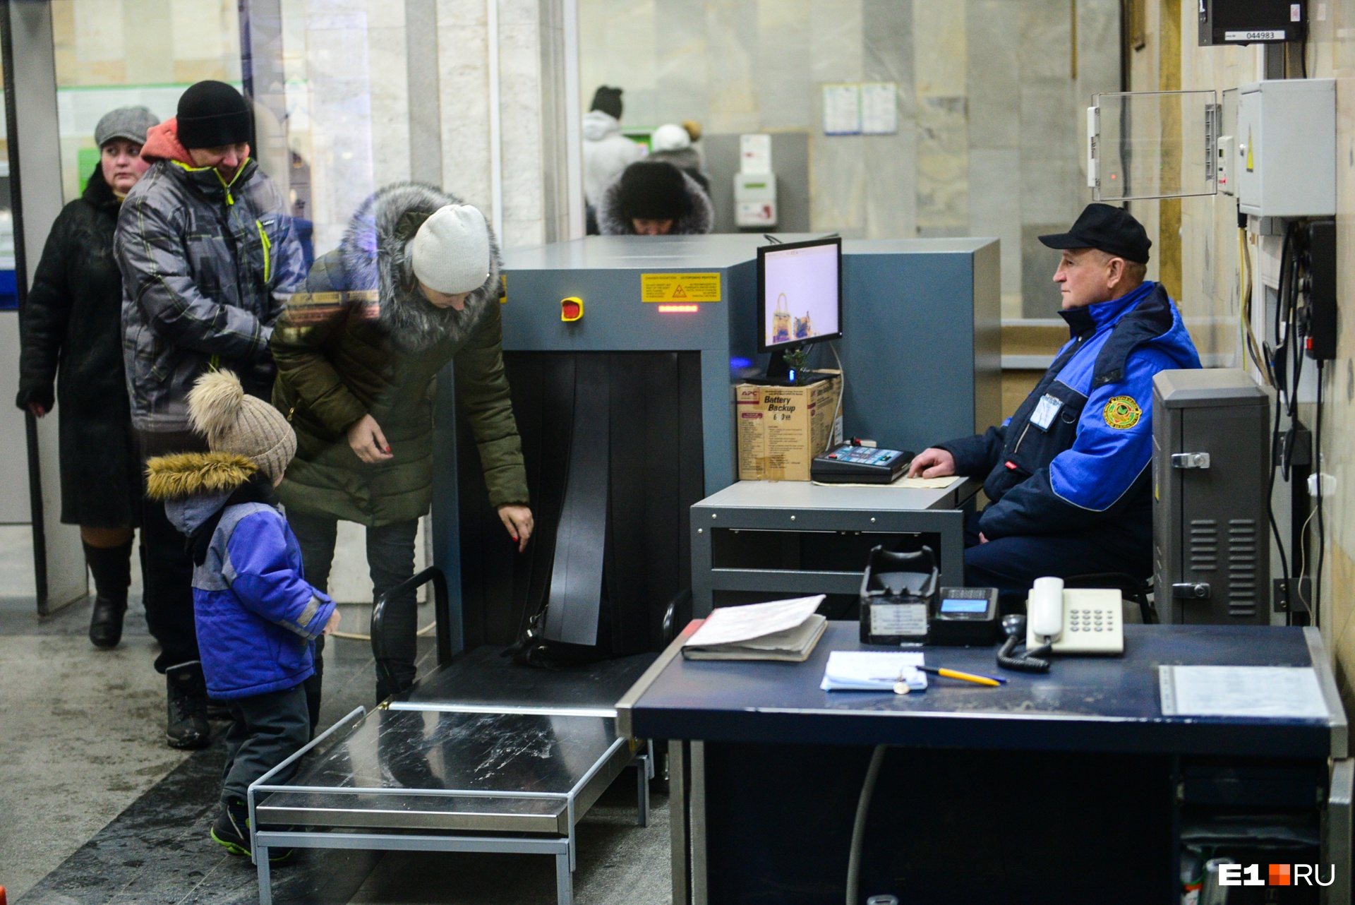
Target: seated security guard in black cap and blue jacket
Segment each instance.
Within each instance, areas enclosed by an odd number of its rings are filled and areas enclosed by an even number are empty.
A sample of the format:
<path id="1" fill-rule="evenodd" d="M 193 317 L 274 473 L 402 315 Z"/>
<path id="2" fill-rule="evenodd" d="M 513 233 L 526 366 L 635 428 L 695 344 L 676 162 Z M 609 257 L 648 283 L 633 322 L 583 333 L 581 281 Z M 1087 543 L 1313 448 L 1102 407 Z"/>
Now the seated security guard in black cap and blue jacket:
<path id="1" fill-rule="evenodd" d="M 1153 375 L 1199 367 L 1180 312 L 1145 282 L 1152 243 L 1129 211 L 1088 205 L 1054 282 L 1070 339 L 1001 427 L 923 450 L 909 477 L 984 478 L 991 500 L 965 526 L 965 584 L 997 588 L 1004 611 L 1039 576 L 1152 574 Z"/>

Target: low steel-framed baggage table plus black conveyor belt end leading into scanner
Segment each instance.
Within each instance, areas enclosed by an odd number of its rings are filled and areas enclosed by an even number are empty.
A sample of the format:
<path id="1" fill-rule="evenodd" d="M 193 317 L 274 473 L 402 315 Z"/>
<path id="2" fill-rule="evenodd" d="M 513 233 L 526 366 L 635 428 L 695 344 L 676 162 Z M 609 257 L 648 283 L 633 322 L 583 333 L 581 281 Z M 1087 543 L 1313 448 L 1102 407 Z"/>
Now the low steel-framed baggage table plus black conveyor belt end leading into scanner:
<path id="1" fill-rule="evenodd" d="M 444 607 L 439 592 L 439 629 Z M 401 699 L 354 710 L 249 787 L 262 905 L 272 901 L 272 847 L 551 855 L 558 905 L 569 905 L 576 826 L 630 764 L 648 824 L 653 755 L 618 734 L 615 702 L 656 654 L 545 671 L 501 650 L 477 648 Z"/>

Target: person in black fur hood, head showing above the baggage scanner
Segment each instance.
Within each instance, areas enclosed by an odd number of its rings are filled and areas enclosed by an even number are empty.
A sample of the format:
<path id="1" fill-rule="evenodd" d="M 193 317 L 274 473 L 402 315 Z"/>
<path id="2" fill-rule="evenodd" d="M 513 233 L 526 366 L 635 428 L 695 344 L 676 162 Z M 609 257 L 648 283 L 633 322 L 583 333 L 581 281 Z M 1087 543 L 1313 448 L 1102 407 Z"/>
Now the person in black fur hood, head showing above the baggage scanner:
<path id="1" fill-rule="evenodd" d="M 715 226 L 710 196 L 667 161 L 641 161 L 603 192 L 598 209 L 603 236 L 698 236 Z"/>

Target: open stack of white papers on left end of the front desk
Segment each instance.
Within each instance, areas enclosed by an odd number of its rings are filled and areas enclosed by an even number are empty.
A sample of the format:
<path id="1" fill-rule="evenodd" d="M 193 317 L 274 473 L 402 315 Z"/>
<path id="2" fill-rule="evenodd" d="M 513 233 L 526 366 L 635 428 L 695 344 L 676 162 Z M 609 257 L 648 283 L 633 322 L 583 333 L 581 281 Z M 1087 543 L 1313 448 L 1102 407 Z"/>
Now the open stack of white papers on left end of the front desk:
<path id="1" fill-rule="evenodd" d="M 828 619 L 814 612 L 824 595 L 720 607 L 683 645 L 687 660 L 787 660 L 809 658 Z"/>

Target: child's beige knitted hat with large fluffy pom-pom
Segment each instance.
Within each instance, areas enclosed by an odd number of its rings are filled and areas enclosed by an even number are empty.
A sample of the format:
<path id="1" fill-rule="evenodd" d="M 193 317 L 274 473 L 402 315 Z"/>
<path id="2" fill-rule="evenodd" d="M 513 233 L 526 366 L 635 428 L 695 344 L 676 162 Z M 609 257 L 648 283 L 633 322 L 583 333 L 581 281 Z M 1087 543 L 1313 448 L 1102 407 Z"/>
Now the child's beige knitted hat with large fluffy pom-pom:
<path id="1" fill-rule="evenodd" d="M 207 371 L 188 390 L 188 421 L 213 452 L 252 459 L 276 481 L 297 454 L 297 435 L 282 412 L 247 396 L 230 371 Z"/>

